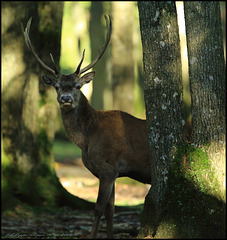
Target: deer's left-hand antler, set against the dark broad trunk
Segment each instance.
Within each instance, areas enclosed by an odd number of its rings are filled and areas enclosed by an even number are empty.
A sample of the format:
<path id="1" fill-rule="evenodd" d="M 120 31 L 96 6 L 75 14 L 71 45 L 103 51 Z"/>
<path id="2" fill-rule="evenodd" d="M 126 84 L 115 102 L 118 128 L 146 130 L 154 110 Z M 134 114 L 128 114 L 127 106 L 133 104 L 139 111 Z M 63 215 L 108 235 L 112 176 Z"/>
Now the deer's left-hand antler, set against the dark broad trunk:
<path id="1" fill-rule="evenodd" d="M 31 26 L 31 21 L 32 21 L 32 17 L 28 20 L 27 22 L 27 26 L 24 30 L 24 27 L 23 27 L 23 24 L 21 23 L 21 26 L 22 26 L 22 31 L 23 31 L 23 34 L 24 34 L 24 39 L 25 39 L 25 42 L 26 42 L 26 45 L 28 47 L 28 49 L 30 50 L 30 52 L 33 54 L 33 56 L 35 57 L 35 59 L 40 63 L 40 65 L 47 71 L 49 72 L 50 74 L 52 75 L 58 75 L 59 74 L 59 71 L 57 70 L 57 66 L 54 62 L 54 59 L 53 59 L 53 56 L 52 54 L 50 53 L 50 58 L 51 58 L 51 61 L 53 62 L 54 64 L 54 70 L 51 69 L 50 67 L 48 67 L 39 57 L 38 55 L 35 53 L 35 50 L 31 44 L 31 40 L 30 40 L 30 37 L 29 37 L 29 31 L 30 31 L 30 26 Z"/>

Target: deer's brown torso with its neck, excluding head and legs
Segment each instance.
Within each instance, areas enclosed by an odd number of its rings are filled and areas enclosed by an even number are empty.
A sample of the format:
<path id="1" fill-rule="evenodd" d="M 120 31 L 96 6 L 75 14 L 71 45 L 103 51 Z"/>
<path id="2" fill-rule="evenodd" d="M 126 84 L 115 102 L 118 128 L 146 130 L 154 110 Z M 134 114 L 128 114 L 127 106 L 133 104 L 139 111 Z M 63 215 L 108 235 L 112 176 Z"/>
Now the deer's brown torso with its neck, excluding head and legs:
<path id="1" fill-rule="evenodd" d="M 116 177 L 150 183 L 146 121 L 122 111 L 96 111 L 80 95 L 78 108 L 61 109 L 61 115 L 68 138 L 82 150 L 84 165 L 98 178 L 111 169 Z M 141 156 L 144 161 L 138 165 Z"/>

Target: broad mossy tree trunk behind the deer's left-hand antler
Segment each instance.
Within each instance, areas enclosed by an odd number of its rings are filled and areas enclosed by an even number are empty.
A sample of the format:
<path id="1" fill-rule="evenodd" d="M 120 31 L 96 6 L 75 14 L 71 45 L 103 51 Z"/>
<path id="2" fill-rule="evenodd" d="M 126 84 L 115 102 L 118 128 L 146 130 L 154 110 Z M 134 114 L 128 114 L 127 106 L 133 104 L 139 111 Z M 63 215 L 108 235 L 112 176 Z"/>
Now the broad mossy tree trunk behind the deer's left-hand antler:
<path id="1" fill-rule="evenodd" d="M 19 202 L 77 205 L 76 198 L 61 186 L 54 170 L 56 96 L 39 81 L 39 64 L 28 51 L 20 26 L 21 22 L 25 26 L 32 16 L 30 36 L 36 52 L 47 64 L 44 55 L 52 52 L 58 63 L 62 10 L 62 2 L 2 4 L 3 209 Z"/>

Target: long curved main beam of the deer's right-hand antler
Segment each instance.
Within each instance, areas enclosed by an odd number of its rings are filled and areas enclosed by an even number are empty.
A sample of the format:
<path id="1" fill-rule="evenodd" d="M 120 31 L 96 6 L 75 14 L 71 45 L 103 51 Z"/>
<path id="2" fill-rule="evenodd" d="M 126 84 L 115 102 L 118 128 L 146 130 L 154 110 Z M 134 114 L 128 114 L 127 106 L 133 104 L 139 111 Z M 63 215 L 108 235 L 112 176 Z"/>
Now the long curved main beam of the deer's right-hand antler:
<path id="1" fill-rule="evenodd" d="M 112 22 L 111 22 L 111 18 L 109 15 L 108 15 L 108 17 L 107 17 L 107 15 L 105 15 L 105 19 L 106 19 L 106 25 L 107 25 L 106 42 L 105 42 L 104 46 L 102 47 L 102 49 L 99 51 L 99 55 L 88 66 L 86 66 L 85 68 L 82 68 L 79 72 L 79 75 L 88 71 L 89 69 L 91 69 L 99 61 L 99 59 L 102 57 L 103 53 L 105 52 L 105 50 L 109 44 L 111 32 L 112 32 Z"/>

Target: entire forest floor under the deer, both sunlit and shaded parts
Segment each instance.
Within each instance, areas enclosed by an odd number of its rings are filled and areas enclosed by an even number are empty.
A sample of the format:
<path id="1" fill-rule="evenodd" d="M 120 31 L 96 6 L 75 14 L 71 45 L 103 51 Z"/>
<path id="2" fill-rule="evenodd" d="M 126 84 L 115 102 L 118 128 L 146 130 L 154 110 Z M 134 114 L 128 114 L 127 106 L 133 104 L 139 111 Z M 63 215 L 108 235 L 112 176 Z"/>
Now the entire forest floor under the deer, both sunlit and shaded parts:
<path id="1" fill-rule="evenodd" d="M 56 163 L 61 184 L 72 194 L 95 202 L 98 180 L 83 166 L 75 163 Z M 116 205 L 132 206 L 114 214 L 114 238 L 136 239 L 140 228 L 140 214 L 149 185 L 130 182 L 116 183 Z M 137 207 L 135 207 L 137 205 Z M 72 210 L 67 207 L 57 211 L 30 212 L 17 206 L 13 212 L 2 216 L 1 237 L 4 239 L 86 239 L 91 231 L 94 211 Z M 106 222 L 102 217 L 98 238 L 106 238 Z"/>

